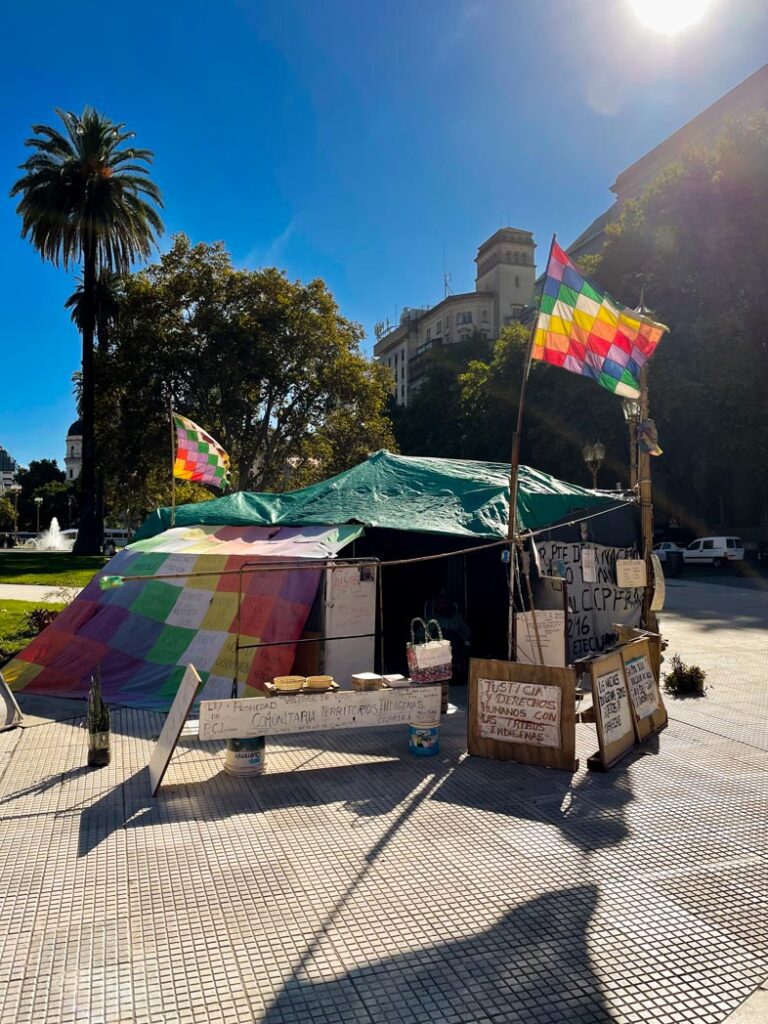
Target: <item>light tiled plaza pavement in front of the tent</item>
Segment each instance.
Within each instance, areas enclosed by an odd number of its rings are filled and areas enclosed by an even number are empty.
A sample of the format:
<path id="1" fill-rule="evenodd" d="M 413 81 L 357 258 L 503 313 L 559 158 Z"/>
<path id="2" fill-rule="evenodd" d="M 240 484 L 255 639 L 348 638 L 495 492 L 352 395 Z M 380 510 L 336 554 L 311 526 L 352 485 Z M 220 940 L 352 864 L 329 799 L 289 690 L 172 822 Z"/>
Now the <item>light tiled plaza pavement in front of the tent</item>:
<path id="1" fill-rule="evenodd" d="M 0 734 L 1 1024 L 723 1021 L 768 977 L 766 603 L 695 588 L 664 625 L 712 694 L 606 775 L 587 725 L 572 778 L 467 758 L 459 711 L 437 759 L 332 732 L 254 780 L 185 741 L 154 801 L 160 716 L 101 771 L 77 723 Z"/>

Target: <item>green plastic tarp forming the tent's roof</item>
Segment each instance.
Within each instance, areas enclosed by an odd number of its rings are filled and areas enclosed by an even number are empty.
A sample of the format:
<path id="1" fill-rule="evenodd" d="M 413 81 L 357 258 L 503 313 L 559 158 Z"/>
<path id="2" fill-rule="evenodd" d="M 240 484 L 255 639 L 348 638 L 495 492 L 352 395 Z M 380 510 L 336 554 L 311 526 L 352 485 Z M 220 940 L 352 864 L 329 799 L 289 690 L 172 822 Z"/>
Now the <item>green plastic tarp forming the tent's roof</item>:
<path id="1" fill-rule="evenodd" d="M 539 529 L 577 510 L 610 508 L 615 496 L 565 483 L 520 466 L 520 529 Z M 495 540 L 507 536 L 509 466 L 461 459 L 422 459 L 376 452 L 330 480 L 282 495 L 240 490 L 176 509 L 174 525 L 308 526 L 360 523 L 409 532 Z M 171 525 L 168 508 L 147 517 L 133 540 Z"/>

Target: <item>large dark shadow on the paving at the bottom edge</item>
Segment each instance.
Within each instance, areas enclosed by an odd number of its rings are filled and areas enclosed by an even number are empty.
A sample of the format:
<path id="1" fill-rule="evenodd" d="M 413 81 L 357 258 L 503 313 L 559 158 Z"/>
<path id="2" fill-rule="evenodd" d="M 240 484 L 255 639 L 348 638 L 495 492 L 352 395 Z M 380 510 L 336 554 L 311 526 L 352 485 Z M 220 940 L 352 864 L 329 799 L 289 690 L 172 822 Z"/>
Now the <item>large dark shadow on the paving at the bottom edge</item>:
<path id="1" fill-rule="evenodd" d="M 304 974 L 319 945 L 316 936 L 263 1024 L 315 1019 L 609 1022 L 613 1018 L 587 941 L 597 900 L 593 885 L 547 893 L 485 931 L 398 953 L 327 982 Z"/>

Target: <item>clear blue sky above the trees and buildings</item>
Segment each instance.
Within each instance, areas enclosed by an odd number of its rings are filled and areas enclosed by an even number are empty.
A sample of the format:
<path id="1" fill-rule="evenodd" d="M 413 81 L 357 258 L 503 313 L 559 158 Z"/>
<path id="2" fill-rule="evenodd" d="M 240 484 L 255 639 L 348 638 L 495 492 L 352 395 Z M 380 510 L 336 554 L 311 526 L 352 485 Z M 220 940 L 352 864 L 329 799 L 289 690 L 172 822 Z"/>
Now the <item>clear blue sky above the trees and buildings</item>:
<path id="1" fill-rule="evenodd" d="M 183 230 L 324 278 L 371 336 L 442 296 L 443 249 L 471 290 L 506 223 L 534 231 L 541 267 L 553 231 L 572 241 L 621 170 L 765 62 L 768 5 L 715 0 L 673 38 L 627 0 L 40 0 L 4 23 L 0 444 L 60 464 L 73 276 L 20 240 L 7 198 L 54 106 L 91 103 L 155 151 L 164 248 Z"/>

